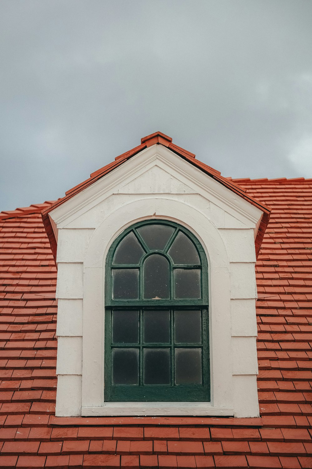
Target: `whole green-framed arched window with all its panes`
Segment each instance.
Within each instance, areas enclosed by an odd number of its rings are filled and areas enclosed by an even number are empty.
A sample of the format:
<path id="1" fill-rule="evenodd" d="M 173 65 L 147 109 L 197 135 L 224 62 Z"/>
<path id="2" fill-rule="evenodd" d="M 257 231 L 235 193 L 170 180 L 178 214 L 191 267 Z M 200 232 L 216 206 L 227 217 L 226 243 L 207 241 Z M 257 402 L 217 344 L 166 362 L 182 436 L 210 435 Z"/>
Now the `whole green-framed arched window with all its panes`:
<path id="1" fill-rule="evenodd" d="M 105 401 L 210 401 L 208 271 L 186 228 L 145 220 L 112 243 Z"/>

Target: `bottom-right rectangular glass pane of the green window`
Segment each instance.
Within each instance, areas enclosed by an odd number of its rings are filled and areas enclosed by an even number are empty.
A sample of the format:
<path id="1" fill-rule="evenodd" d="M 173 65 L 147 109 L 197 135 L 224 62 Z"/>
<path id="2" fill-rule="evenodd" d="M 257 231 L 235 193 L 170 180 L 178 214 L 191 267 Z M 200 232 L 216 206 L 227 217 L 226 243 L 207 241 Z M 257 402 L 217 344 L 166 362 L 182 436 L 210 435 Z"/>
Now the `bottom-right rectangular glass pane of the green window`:
<path id="1" fill-rule="evenodd" d="M 202 350 L 200 348 L 175 349 L 175 384 L 202 383 Z"/>

